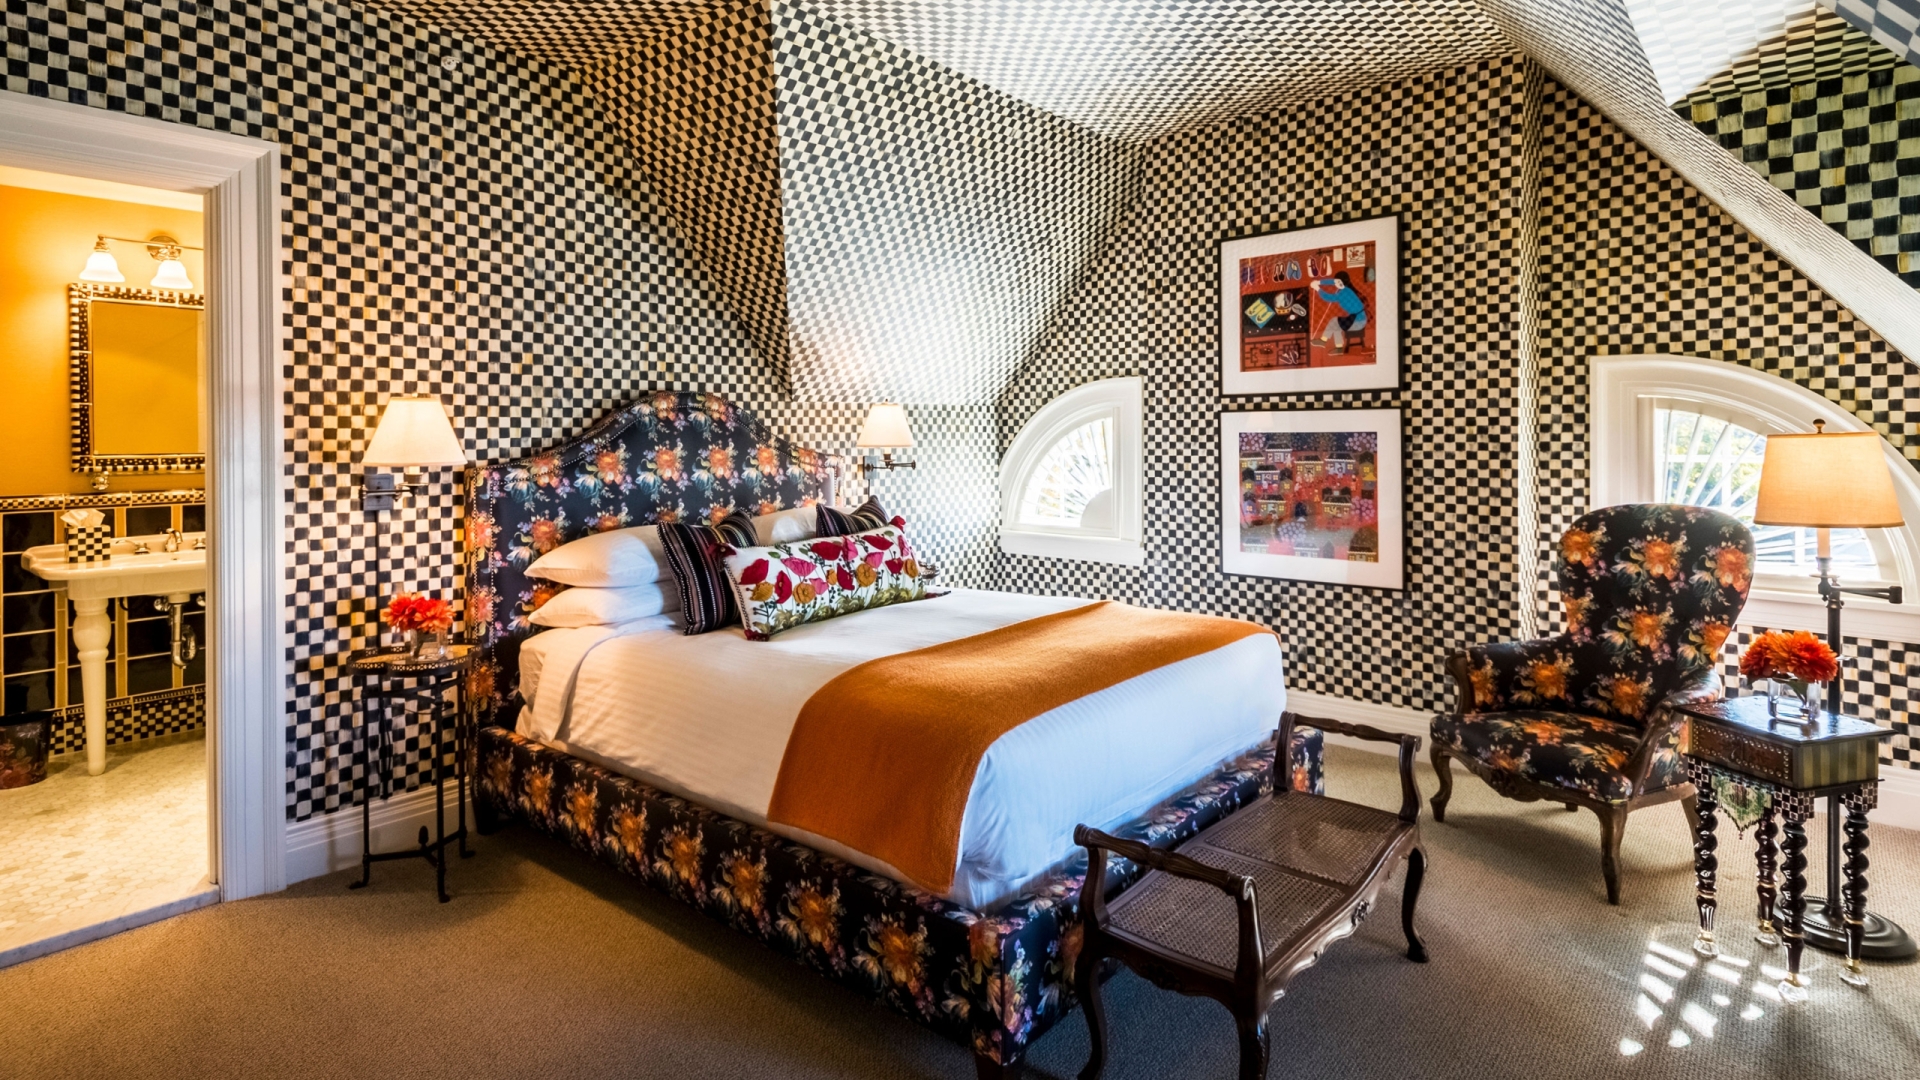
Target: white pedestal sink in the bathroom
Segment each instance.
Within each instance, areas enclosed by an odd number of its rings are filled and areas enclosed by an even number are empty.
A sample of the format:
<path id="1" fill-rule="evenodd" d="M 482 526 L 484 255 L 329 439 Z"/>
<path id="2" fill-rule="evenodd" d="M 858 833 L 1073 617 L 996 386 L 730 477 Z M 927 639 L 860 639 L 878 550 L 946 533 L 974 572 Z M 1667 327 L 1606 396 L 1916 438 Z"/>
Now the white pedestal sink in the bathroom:
<path id="1" fill-rule="evenodd" d="M 21 565 L 29 573 L 67 586 L 73 601 L 73 648 L 81 653 L 81 711 L 86 717 L 86 771 L 108 769 L 108 642 L 113 623 L 108 601 L 115 596 L 165 596 L 186 603 L 207 590 L 207 552 L 194 548 L 204 534 L 179 540 L 167 552 L 167 536 L 125 536 L 113 542 L 113 557 L 104 563 L 69 563 L 65 544 L 27 548 Z M 132 553 L 148 548 L 146 553 Z"/>

